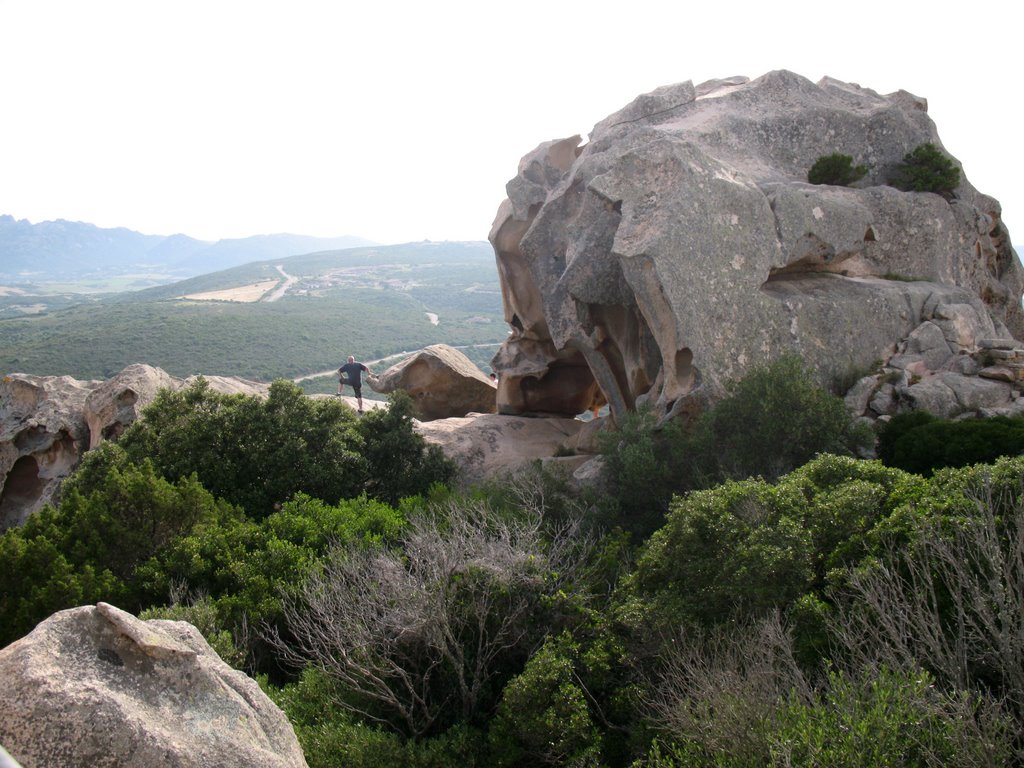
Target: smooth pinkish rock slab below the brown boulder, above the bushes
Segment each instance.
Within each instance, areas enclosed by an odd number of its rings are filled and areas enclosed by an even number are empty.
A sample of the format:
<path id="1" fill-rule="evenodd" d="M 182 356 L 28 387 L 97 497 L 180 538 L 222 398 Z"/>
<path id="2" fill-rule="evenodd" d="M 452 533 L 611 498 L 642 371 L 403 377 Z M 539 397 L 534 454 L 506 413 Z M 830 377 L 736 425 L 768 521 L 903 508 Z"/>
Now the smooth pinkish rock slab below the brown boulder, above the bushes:
<path id="1" fill-rule="evenodd" d="M 464 481 L 474 482 L 554 456 L 583 426 L 577 419 L 473 414 L 421 423 L 416 431 L 441 447 Z"/>

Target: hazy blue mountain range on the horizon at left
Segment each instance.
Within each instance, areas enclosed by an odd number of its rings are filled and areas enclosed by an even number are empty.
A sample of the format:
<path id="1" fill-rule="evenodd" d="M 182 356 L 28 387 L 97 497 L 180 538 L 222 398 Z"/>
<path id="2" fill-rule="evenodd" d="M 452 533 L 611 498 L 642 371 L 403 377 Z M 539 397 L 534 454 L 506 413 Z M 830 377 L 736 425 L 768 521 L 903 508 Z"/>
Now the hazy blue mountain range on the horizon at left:
<path id="1" fill-rule="evenodd" d="M 215 243 L 185 234 L 142 234 L 81 221 L 0 215 L 0 285 L 74 283 L 118 274 L 168 283 L 252 261 L 375 245 L 355 237 L 257 234 Z"/>

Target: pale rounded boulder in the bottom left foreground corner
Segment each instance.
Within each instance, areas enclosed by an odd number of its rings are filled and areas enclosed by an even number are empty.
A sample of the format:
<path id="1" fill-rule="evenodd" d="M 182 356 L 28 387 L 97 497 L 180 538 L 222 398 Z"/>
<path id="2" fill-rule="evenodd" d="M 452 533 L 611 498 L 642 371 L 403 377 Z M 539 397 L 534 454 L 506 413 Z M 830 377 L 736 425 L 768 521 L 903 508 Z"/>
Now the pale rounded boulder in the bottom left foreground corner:
<path id="1" fill-rule="evenodd" d="M 105 603 L 0 650 L 0 743 L 26 768 L 305 766 L 284 713 L 185 622 Z"/>

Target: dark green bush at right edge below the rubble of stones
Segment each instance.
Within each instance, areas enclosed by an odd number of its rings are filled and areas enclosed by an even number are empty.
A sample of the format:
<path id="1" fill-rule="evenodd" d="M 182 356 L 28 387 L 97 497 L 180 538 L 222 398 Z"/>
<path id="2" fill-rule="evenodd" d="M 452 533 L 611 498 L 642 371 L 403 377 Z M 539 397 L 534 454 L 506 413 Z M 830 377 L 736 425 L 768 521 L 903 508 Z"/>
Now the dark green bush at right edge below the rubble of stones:
<path id="1" fill-rule="evenodd" d="M 879 439 L 879 458 L 892 467 L 930 475 L 1024 453 L 1024 419 L 937 419 L 924 412 L 899 415 Z"/>

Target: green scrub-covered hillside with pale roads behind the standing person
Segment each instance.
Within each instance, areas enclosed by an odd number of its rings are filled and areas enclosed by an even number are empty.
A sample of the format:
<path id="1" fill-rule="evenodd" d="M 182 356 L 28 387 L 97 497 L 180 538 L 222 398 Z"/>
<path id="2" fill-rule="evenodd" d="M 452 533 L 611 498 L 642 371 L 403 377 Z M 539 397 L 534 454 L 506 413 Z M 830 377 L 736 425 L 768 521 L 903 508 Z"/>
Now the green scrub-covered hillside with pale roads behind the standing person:
<path id="1" fill-rule="evenodd" d="M 280 278 L 278 264 L 301 279 L 280 301 L 179 298 Z M 506 333 L 486 244 L 410 244 L 260 262 L 2 319 L 0 373 L 104 378 L 148 362 L 176 376 L 270 380 L 337 368 L 347 354 L 373 359 L 426 344 L 496 342 Z"/>

